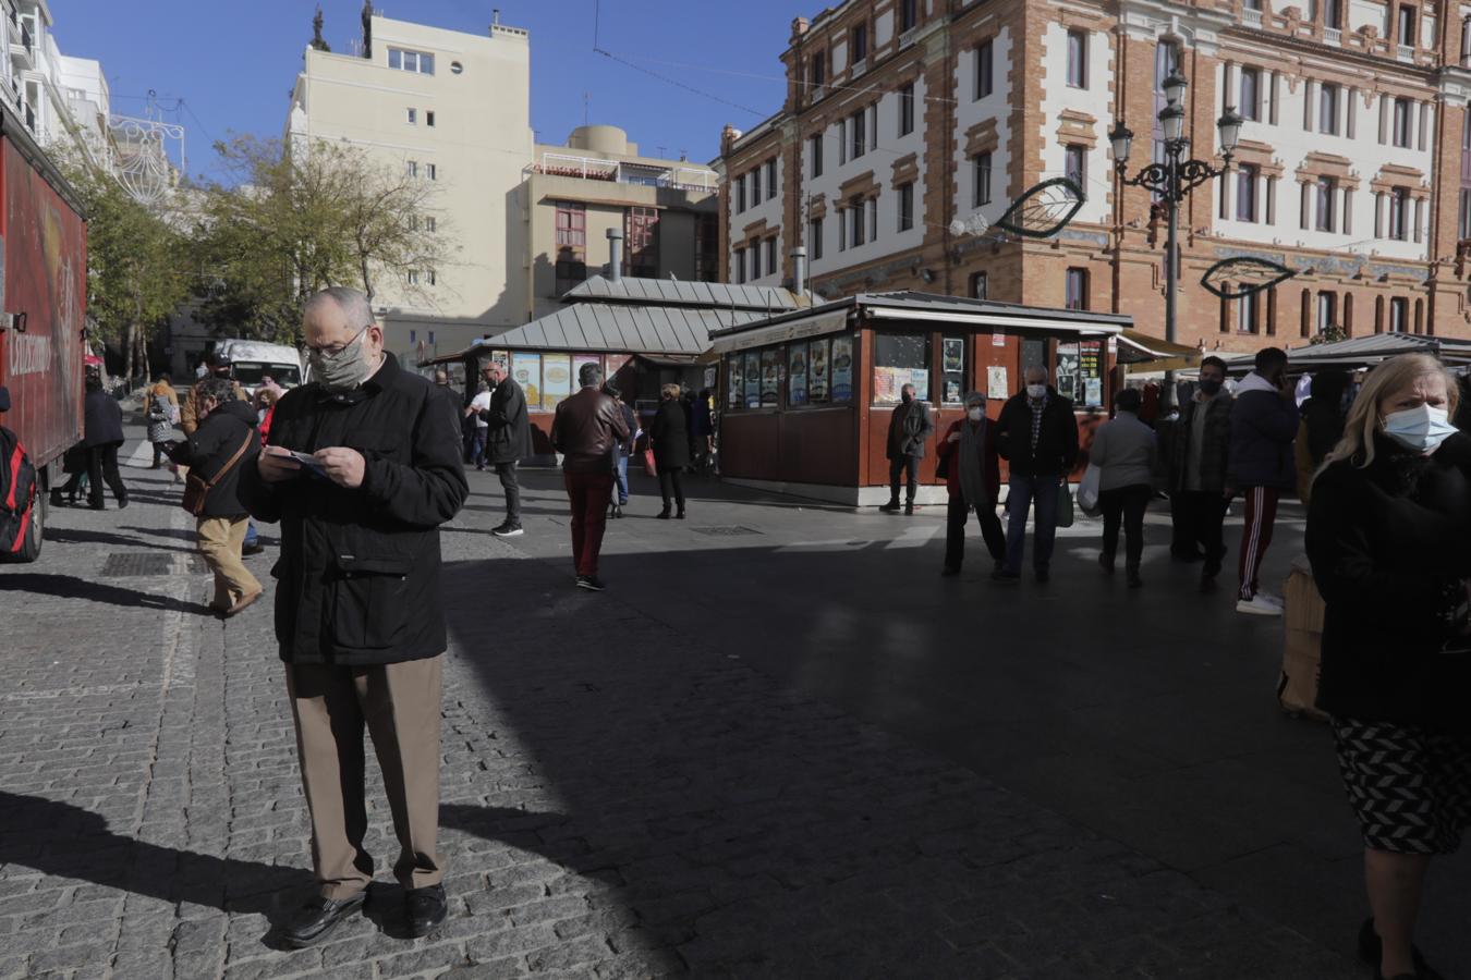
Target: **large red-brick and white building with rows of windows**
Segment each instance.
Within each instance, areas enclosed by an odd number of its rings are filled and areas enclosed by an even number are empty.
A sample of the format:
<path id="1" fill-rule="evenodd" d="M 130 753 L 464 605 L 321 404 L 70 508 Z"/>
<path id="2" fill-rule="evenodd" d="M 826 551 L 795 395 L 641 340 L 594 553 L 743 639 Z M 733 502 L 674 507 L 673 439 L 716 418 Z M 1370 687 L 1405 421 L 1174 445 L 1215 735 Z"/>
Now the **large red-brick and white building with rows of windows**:
<path id="1" fill-rule="evenodd" d="M 1236 166 L 1181 206 L 1178 339 L 1302 344 L 1328 326 L 1471 335 L 1471 3 L 847 0 L 791 24 L 781 110 L 722 140 L 722 276 L 777 285 L 803 245 L 837 297 L 924 289 L 1131 314 L 1164 334 L 1165 220 L 1108 132 L 1159 157 L 1178 66 L 1193 156 L 1246 116 Z M 1153 135 L 1153 140 L 1150 138 Z M 1052 176 L 1087 201 L 1050 239 L 953 235 Z M 1302 275 L 1221 301 L 1230 256 Z"/>

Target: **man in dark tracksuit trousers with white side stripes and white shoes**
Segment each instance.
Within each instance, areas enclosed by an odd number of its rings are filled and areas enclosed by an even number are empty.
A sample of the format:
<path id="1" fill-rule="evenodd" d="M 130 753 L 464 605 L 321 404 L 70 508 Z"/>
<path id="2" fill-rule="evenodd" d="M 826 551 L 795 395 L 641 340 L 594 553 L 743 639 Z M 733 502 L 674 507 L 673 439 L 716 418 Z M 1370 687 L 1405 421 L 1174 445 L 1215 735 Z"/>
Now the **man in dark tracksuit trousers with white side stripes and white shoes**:
<path id="1" fill-rule="evenodd" d="M 1297 403 L 1287 383 L 1287 354 L 1277 347 L 1256 353 L 1256 370 L 1236 389 L 1231 406 L 1231 457 L 1227 482 L 1246 497 L 1242 529 L 1240 577 L 1236 611 L 1281 616 L 1280 598 L 1262 592 L 1258 577 L 1272 542 L 1277 500 L 1296 485 Z"/>

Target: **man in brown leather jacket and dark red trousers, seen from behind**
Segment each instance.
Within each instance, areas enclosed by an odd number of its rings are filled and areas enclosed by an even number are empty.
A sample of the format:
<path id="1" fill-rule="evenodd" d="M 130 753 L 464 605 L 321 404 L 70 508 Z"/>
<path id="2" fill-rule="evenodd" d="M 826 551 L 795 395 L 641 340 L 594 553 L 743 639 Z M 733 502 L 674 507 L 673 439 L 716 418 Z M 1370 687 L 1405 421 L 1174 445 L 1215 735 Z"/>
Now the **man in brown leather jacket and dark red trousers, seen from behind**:
<path id="1" fill-rule="evenodd" d="M 577 585 L 600 592 L 606 586 L 597 577 L 597 552 L 613 489 L 613 451 L 619 439 L 628 438 L 628 423 L 618 403 L 599 389 L 603 370 L 597 364 L 583 364 L 577 381 L 583 389 L 556 407 L 552 445 L 562 454 L 562 482 L 572 504 Z"/>

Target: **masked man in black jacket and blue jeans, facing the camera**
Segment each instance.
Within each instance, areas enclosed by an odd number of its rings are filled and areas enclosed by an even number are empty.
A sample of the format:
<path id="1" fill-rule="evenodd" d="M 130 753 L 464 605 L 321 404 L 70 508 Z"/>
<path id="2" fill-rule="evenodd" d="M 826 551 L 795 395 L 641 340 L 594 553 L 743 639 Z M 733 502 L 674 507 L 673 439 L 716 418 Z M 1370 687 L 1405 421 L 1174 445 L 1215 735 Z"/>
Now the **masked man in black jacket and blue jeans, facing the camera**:
<path id="1" fill-rule="evenodd" d="M 1046 582 L 1058 535 L 1058 494 L 1078 461 L 1078 420 L 1072 403 L 1047 385 L 1046 367 L 1028 367 L 1027 388 L 1002 406 L 996 450 L 1011 464 L 1011 483 L 1006 491 L 1006 567 L 991 577 L 997 582 L 1021 577 L 1027 510 L 1037 501 L 1031 567 L 1037 582 Z"/>

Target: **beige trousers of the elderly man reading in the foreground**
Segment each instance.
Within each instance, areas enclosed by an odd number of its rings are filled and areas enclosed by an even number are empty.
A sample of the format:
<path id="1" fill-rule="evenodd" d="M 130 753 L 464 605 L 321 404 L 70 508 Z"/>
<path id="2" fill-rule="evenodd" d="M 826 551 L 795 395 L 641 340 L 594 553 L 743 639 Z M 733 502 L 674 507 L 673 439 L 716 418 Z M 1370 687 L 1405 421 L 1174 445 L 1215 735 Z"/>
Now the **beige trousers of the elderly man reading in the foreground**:
<path id="1" fill-rule="evenodd" d="M 363 849 L 363 727 L 372 736 L 399 837 L 403 887 L 438 884 L 440 664 L 443 657 L 375 667 L 287 664 L 302 785 L 312 813 L 312 868 L 324 898 L 372 882 Z"/>

